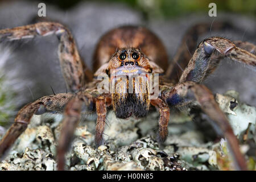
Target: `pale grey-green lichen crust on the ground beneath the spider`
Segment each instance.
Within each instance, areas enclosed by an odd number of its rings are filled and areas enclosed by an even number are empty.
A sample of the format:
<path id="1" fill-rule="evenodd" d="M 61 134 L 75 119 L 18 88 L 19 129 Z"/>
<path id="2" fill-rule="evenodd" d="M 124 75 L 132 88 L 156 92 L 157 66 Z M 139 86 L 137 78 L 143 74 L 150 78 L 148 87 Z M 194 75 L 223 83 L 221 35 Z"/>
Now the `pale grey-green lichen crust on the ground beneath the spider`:
<path id="1" fill-rule="evenodd" d="M 225 97 L 225 96 L 223 96 Z M 220 97 L 221 98 L 221 97 Z M 238 103 L 232 111 L 243 119 L 250 118 L 248 110 L 240 110 L 243 104 L 229 95 L 225 105 Z M 224 102 L 223 102 L 224 103 Z M 248 108 L 248 107 L 246 107 Z M 225 107 L 222 107 L 225 111 Z M 229 111 L 230 112 L 230 111 Z M 156 142 L 155 127 L 158 113 L 152 112 L 146 118 L 118 119 L 113 111 L 108 113 L 108 126 L 105 129 L 105 145 L 98 148 L 94 144 L 95 117 L 82 117 L 74 133 L 70 150 L 65 154 L 65 169 L 81 170 L 216 170 L 233 169 L 232 160 L 225 139 L 220 142 L 205 142 L 205 133 L 199 130 L 193 115 L 186 112 L 172 113 L 166 142 L 159 146 Z M 233 113 L 233 114 L 234 114 Z M 249 115 L 245 115 L 245 113 Z M 228 113 L 227 113 L 228 114 Z M 232 115 L 230 112 L 229 115 Z M 55 118 L 56 117 L 56 118 Z M 60 114 L 34 115 L 30 125 L 20 135 L 9 155 L 0 163 L 0 170 L 56 170 L 56 146 L 63 123 Z M 230 118 L 229 118 L 230 119 Z M 230 120 L 231 122 L 231 120 Z M 200 123 L 201 125 L 201 123 Z M 253 122 L 248 123 L 255 127 Z M 246 127 L 243 128 L 243 130 Z M 246 134 L 243 131 L 243 135 Z M 253 139 L 247 134 L 247 139 Z M 255 137 L 255 136 L 254 136 Z M 241 151 L 250 150 L 243 144 Z M 254 162 L 253 158 L 249 158 Z M 253 166 L 253 162 L 250 162 Z"/>

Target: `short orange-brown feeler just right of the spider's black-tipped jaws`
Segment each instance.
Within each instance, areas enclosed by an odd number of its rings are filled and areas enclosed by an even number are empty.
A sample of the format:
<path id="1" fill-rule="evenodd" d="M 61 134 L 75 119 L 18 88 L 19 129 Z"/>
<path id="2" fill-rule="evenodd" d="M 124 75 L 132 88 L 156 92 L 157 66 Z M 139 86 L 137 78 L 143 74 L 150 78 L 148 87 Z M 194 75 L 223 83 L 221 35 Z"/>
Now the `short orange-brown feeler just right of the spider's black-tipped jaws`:
<path id="1" fill-rule="evenodd" d="M 159 143 L 163 143 L 168 135 L 168 122 L 170 119 L 170 108 L 162 99 L 150 100 L 150 104 L 158 109 L 159 117 L 159 133 L 156 138 Z"/>

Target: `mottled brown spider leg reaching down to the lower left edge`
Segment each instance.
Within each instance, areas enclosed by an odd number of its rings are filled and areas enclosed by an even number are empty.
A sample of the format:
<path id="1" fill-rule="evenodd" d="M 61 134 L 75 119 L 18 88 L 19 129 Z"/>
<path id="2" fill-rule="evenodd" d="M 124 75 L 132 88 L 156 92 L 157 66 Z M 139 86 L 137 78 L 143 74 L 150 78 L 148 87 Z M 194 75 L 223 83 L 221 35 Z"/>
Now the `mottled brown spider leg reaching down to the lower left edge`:
<path id="1" fill-rule="evenodd" d="M 33 114 L 43 114 L 45 112 L 61 112 L 69 98 L 73 94 L 56 94 L 39 98 L 31 104 L 27 104 L 19 110 L 14 124 L 7 131 L 5 136 L 0 141 L 0 159 L 2 159 L 7 150 L 13 145 L 15 140 L 27 129 L 30 119 Z"/>

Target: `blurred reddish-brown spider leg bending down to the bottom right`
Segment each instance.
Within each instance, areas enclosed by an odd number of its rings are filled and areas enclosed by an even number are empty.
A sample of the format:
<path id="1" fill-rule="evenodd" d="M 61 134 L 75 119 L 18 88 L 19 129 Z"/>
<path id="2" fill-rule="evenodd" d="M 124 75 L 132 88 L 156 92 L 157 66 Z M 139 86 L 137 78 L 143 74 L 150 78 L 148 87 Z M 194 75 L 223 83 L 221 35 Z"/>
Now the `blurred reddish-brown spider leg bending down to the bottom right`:
<path id="1" fill-rule="evenodd" d="M 217 102 L 214 100 L 213 94 L 204 86 L 196 84 L 192 81 L 179 83 L 170 90 L 162 93 L 162 99 L 170 106 L 185 105 L 192 101 L 197 101 L 201 105 L 201 109 L 209 115 L 210 119 L 220 129 L 221 133 L 228 140 L 229 148 L 232 153 L 236 168 L 238 170 L 246 170 L 245 158 L 241 154 L 240 147 L 232 127 L 229 124 L 226 115 L 222 112 Z"/>

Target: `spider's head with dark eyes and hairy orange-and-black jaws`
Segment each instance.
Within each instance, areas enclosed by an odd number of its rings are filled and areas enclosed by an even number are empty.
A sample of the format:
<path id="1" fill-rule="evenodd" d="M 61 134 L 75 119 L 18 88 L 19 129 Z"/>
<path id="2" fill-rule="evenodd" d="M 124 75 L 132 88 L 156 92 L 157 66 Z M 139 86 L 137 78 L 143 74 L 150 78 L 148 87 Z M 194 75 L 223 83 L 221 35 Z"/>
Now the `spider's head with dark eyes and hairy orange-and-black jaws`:
<path id="1" fill-rule="evenodd" d="M 118 118 L 144 117 L 150 104 L 150 61 L 136 48 L 117 50 L 109 61 L 112 105 Z"/>

